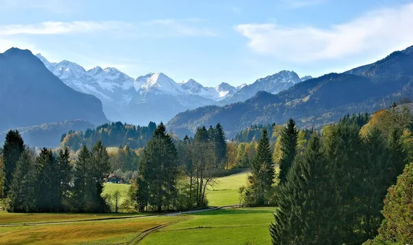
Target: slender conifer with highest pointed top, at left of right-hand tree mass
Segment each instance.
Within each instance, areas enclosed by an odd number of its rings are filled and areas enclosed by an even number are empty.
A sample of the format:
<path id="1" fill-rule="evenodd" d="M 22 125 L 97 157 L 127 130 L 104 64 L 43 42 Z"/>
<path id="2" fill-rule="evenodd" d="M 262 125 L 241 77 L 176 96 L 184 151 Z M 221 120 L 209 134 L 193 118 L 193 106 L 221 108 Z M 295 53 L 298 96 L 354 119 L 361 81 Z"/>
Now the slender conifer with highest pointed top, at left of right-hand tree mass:
<path id="1" fill-rule="evenodd" d="M 288 170 L 295 159 L 297 152 L 297 136 L 298 130 L 295 127 L 295 121 L 289 119 L 286 128 L 281 133 L 281 152 L 282 156 L 279 160 L 279 183 L 284 184 L 287 178 Z"/>

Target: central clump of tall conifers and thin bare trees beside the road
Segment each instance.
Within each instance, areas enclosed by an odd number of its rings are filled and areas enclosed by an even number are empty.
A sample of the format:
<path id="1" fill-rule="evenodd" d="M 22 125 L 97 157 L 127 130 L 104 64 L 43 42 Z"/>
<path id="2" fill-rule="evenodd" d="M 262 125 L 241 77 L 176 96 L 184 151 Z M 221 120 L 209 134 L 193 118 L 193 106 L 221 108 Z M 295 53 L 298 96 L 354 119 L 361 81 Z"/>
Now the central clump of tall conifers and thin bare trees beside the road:
<path id="1" fill-rule="evenodd" d="M 198 128 L 176 144 L 159 124 L 142 152 L 129 201 L 138 211 L 184 210 L 207 206 L 207 187 L 226 165 L 222 126 Z"/>

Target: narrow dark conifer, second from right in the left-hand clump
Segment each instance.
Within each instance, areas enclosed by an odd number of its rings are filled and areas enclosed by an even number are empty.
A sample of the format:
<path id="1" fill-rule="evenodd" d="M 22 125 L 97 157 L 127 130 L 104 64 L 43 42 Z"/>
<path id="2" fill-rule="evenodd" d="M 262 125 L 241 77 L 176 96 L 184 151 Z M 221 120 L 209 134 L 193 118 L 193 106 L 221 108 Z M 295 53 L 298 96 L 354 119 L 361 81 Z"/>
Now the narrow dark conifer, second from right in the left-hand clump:
<path id="1" fill-rule="evenodd" d="M 78 159 L 74 166 L 74 187 L 73 187 L 73 200 L 74 208 L 78 211 L 85 211 L 86 209 L 86 196 L 87 196 L 87 183 L 89 176 L 90 165 L 90 152 L 86 146 L 83 146 L 81 152 L 78 155 Z"/>

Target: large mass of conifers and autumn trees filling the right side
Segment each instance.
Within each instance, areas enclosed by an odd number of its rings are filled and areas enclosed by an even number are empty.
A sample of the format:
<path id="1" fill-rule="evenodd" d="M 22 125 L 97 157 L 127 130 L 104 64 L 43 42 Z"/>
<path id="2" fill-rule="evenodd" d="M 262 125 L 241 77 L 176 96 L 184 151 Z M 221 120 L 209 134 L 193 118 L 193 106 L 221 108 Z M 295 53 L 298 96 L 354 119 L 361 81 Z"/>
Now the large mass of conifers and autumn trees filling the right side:
<path id="1" fill-rule="evenodd" d="M 313 131 L 299 147 L 299 130 L 290 119 L 280 135 L 276 162 L 264 129 L 242 190 L 244 204 L 276 207 L 273 244 L 412 242 L 411 218 L 405 214 L 411 188 L 401 191 L 395 185 L 387 194 L 412 161 L 412 122 L 410 111 L 394 105 L 372 117 L 343 117 Z M 406 167 L 405 175 L 411 173 Z M 402 179 L 407 181 L 401 176 L 399 185 L 408 186 Z"/>

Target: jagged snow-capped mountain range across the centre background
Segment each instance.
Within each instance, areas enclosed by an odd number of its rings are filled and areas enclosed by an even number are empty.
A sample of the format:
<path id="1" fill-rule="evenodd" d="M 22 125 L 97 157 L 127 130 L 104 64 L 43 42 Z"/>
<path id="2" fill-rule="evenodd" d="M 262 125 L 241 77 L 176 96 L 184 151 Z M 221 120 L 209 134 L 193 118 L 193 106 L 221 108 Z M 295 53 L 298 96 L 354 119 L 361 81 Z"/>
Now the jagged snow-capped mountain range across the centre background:
<path id="1" fill-rule="evenodd" d="M 112 67 L 87 71 L 74 62 L 49 62 L 41 54 L 36 56 L 67 86 L 98 97 L 109 120 L 140 125 L 168 121 L 182 111 L 200 106 L 248 100 L 258 91 L 279 93 L 303 80 L 293 71 L 281 71 L 251 85 L 235 87 L 222 82 L 207 87 L 193 79 L 175 82 L 164 73 L 149 73 L 134 79 Z"/>

